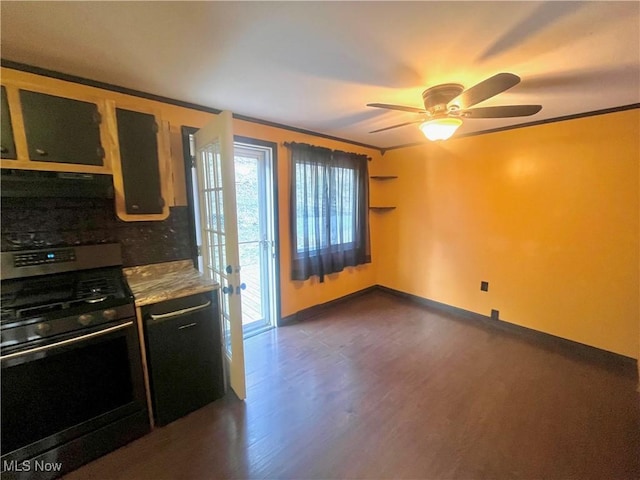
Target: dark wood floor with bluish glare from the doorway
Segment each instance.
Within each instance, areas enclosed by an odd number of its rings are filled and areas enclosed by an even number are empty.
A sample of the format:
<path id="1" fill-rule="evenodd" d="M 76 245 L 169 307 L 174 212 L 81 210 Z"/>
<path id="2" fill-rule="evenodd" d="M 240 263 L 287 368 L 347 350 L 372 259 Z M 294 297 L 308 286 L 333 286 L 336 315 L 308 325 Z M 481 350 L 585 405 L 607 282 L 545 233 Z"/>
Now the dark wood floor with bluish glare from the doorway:
<path id="1" fill-rule="evenodd" d="M 245 402 L 68 478 L 640 478 L 629 369 L 377 292 L 245 348 Z"/>

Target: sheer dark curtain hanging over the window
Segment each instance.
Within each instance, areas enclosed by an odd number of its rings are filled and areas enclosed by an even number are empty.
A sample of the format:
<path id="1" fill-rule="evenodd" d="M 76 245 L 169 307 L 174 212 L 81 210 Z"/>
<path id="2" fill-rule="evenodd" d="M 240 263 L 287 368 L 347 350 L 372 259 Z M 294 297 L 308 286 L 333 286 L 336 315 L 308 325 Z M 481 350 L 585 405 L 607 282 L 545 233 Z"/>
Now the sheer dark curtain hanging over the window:
<path id="1" fill-rule="evenodd" d="M 367 157 L 292 143 L 292 280 L 371 261 Z"/>

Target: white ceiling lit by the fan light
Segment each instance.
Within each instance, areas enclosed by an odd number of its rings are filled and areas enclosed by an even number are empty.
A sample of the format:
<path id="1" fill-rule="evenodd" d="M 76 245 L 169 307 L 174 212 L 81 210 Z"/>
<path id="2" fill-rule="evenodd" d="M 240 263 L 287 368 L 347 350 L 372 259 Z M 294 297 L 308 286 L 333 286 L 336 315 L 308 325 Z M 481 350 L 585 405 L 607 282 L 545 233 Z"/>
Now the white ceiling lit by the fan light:
<path id="1" fill-rule="evenodd" d="M 440 83 L 522 82 L 460 134 L 640 102 L 640 2 L 13 2 L 1 55 L 92 80 L 378 147 L 423 141 Z"/>

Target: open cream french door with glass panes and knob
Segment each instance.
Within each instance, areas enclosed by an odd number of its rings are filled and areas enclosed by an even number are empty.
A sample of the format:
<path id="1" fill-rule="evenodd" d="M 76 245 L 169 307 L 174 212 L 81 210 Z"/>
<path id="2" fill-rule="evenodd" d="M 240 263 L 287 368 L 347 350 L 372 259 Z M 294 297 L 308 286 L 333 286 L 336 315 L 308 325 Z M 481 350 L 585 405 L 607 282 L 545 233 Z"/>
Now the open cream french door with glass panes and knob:
<path id="1" fill-rule="evenodd" d="M 202 271 L 220 284 L 220 314 L 229 383 L 246 397 L 236 214 L 233 119 L 229 111 L 195 133 Z"/>

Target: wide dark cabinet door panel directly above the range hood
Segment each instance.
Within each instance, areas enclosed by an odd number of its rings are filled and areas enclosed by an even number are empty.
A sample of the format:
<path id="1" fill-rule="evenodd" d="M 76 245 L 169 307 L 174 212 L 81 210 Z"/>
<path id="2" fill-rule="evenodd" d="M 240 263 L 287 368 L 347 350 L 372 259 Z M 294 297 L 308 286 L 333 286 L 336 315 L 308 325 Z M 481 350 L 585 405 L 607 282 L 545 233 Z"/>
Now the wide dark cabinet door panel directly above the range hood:
<path id="1" fill-rule="evenodd" d="M 103 165 L 100 114 L 95 103 L 20 90 L 29 158 Z"/>

